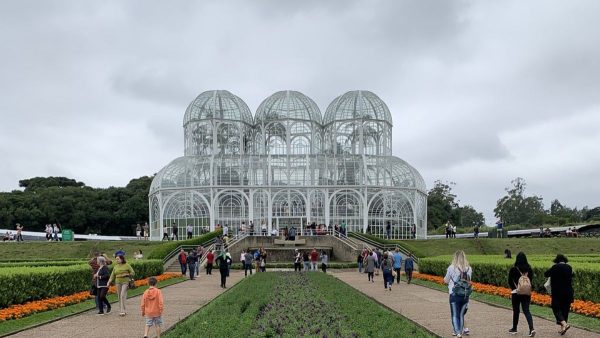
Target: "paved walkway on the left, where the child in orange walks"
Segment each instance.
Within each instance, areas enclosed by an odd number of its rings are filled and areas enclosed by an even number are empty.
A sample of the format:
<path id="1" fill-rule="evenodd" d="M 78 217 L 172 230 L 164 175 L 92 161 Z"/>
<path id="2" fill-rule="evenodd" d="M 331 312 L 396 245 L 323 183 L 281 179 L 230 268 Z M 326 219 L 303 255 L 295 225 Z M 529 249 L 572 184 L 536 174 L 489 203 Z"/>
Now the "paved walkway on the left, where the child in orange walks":
<path id="1" fill-rule="evenodd" d="M 231 271 L 231 275 L 227 279 L 227 286 L 233 286 L 242 278 L 244 278 L 243 271 Z M 223 289 L 219 286 L 220 284 L 221 279 L 217 269 L 210 276 L 201 274 L 193 281 L 188 280 L 163 288 L 165 302 L 163 330 L 173 326 L 221 294 Z M 9 337 L 142 337 L 144 320 L 140 314 L 140 297 L 127 300 L 128 314 L 125 317 L 119 317 L 119 305 L 113 303 L 113 312 L 108 315 L 99 316 L 96 314 L 96 310 L 90 310 Z"/>

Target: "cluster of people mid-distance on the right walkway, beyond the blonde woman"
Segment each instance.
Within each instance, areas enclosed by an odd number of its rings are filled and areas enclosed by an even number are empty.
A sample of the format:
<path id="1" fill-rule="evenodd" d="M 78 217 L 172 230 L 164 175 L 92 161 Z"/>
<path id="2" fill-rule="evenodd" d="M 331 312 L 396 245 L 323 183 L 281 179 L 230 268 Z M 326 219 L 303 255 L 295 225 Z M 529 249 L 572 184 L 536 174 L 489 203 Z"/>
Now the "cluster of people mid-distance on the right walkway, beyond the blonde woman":
<path id="1" fill-rule="evenodd" d="M 383 287 L 385 290 L 392 291 L 394 279 L 396 284 L 400 284 L 400 274 L 402 272 L 402 254 L 396 248 L 394 251 L 381 252 L 379 249 L 364 249 L 356 258 L 358 263 L 358 272 L 367 274 L 367 280 L 375 283 L 375 275 L 379 275 L 381 270 L 383 275 Z M 404 260 L 404 273 L 406 282 L 410 284 L 414 270 L 414 258 L 412 254 Z"/>

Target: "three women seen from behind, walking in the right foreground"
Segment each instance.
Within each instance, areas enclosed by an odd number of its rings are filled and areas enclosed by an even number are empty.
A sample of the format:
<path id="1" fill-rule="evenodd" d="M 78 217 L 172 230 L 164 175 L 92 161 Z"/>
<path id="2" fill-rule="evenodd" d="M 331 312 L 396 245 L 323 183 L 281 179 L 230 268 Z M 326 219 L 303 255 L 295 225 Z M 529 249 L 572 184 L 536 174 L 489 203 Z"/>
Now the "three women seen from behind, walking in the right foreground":
<path id="1" fill-rule="evenodd" d="M 568 319 L 571 303 L 574 301 L 573 269 L 567 264 L 567 257 L 562 254 L 558 254 L 553 262 L 554 265 L 544 273 L 544 276 L 548 278 L 544 286 L 551 289 L 552 312 L 556 324 L 560 326 L 558 332 L 564 335 L 571 327 Z M 465 253 L 462 250 L 456 251 L 452 263 L 446 270 L 444 282 L 448 284 L 453 333 L 458 338 L 469 333 L 469 329 L 465 327 L 465 315 L 468 311 L 469 296 L 472 292 L 472 275 L 473 269 L 469 265 Z M 529 310 L 531 292 L 534 289 L 533 277 L 534 272 L 527 261 L 527 256 L 525 253 L 519 252 L 514 265 L 508 271 L 508 286 L 512 290 L 513 310 L 512 327 L 508 330 L 509 334 L 517 334 L 519 316 L 522 310 L 529 328 L 528 336 L 534 337 L 536 335 L 533 317 Z"/>

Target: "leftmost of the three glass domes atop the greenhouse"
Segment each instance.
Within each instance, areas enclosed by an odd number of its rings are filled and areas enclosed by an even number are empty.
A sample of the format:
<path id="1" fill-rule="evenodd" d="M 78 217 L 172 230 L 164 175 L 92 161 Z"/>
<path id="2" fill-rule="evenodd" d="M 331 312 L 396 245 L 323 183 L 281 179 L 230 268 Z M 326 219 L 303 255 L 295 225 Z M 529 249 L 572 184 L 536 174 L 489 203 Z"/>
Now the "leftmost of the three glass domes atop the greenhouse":
<path id="1" fill-rule="evenodd" d="M 252 112 L 248 105 L 227 90 L 209 90 L 201 93 L 185 110 L 183 125 L 189 122 L 221 119 L 253 124 Z"/>

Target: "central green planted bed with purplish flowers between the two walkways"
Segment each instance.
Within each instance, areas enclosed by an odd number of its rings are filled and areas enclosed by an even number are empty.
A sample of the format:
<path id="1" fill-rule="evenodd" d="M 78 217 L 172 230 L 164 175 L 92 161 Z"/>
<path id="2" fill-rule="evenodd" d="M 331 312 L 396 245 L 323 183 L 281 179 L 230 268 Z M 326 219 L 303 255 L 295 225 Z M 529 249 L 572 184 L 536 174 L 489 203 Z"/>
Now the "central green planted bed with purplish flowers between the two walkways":
<path id="1" fill-rule="evenodd" d="M 243 280 L 166 337 L 433 337 L 335 278 L 268 272 Z"/>

